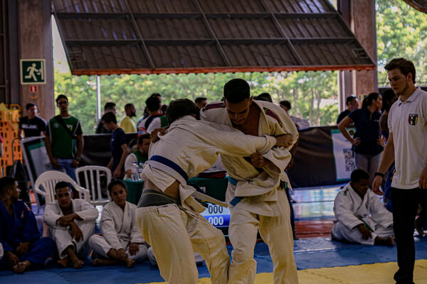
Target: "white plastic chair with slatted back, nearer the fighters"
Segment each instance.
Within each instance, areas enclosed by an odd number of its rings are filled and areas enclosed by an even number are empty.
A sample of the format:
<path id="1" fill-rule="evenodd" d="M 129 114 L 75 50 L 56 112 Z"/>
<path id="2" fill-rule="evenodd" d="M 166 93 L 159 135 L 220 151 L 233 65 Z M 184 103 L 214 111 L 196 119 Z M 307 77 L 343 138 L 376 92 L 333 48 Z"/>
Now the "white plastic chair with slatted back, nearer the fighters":
<path id="1" fill-rule="evenodd" d="M 90 191 L 90 203 L 94 206 L 105 205 L 110 202 L 110 192 L 107 191 L 108 198 L 102 198 L 101 195 L 101 175 L 105 173 L 107 178 L 107 185 L 111 181 L 111 171 L 107 167 L 101 167 L 100 165 L 86 165 L 85 167 L 75 169 L 75 177 L 77 178 L 78 184 L 81 186 L 80 173 L 83 173 L 85 177 L 85 187 Z"/>

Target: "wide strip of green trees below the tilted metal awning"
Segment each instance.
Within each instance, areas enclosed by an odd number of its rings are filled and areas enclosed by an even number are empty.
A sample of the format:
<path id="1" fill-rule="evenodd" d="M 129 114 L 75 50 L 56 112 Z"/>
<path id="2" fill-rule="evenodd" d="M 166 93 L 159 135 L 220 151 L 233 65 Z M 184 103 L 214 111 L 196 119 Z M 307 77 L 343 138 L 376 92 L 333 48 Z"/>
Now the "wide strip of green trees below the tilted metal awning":
<path id="1" fill-rule="evenodd" d="M 183 97 L 206 97 L 209 102 L 216 102 L 222 98 L 223 85 L 236 77 L 249 82 L 254 96 L 268 92 L 275 103 L 289 100 L 290 114 L 308 119 L 313 126 L 334 124 L 337 116 L 335 72 L 102 76 L 101 105 L 115 102 L 117 119 L 120 119 L 125 115 L 127 103 L 135 104 L 137 117 L 142 116 L 145 100 L 154 92 L 162 94 L 163 104 Z M 80 119 L 84 133 L 94 133 L 97 124 L 95 77 L 56 72 L 55 92 L 68 95 L 70 114 Z"/>

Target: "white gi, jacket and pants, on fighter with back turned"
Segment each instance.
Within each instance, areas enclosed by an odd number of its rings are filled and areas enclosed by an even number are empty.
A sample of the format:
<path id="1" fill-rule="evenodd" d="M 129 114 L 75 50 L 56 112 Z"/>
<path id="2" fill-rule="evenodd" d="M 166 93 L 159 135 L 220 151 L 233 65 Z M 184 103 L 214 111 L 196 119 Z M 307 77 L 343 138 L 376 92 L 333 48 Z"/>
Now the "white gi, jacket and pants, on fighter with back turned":
<path id="1" fill-rule="evenodd" d="M 194 251 L 206 261 L 211 283 L 228 283 L 230 259 L 223 233 L 200 214 L 205 208 L 191 197 L 195 189 L 186 184 L 188 178 L 211 167 L 218 153 L 248 156 L 255 151 L 265 153 L 275 143 L 270 136 L 245 136 L 228 126 L 191 116 L 174 121 L 164 136 L 152 143 L 142 177 L 161 190 L 178 180 L 181 205 L 137 208 L 137 225 L 169 284 L 198 283 Z"/>

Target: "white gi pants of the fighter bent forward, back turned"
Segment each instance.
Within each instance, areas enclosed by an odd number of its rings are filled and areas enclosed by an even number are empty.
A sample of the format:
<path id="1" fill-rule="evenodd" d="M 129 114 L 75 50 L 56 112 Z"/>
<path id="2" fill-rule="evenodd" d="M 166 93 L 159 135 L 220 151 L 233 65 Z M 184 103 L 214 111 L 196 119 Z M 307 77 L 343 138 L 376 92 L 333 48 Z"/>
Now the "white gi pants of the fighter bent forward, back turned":
<path id="1" fill-rule="evenodd" d="M 160 274 L 167 283 L 198 283 L 194 251 L 206 261 L 212 284 L 228 283 L 230 258 L 223 233 L 201 214 L 176 204 L 139 207 L 137 226 L 152 246 Z"/>

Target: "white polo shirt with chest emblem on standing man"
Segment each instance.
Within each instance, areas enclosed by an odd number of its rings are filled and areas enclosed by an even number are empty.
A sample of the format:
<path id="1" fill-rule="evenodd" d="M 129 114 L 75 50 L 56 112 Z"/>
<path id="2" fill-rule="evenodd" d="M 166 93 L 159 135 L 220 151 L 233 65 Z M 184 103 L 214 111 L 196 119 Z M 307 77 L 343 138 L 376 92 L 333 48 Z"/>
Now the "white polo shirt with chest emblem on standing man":
<path id="1" fill-rule="evenodd" d="M 427 165 L 427 92 L 418 87 L 405 102 L 399 97 L 391 106 L 388 123 L 396 164 L 391 186 L 416 188 Z"/>

